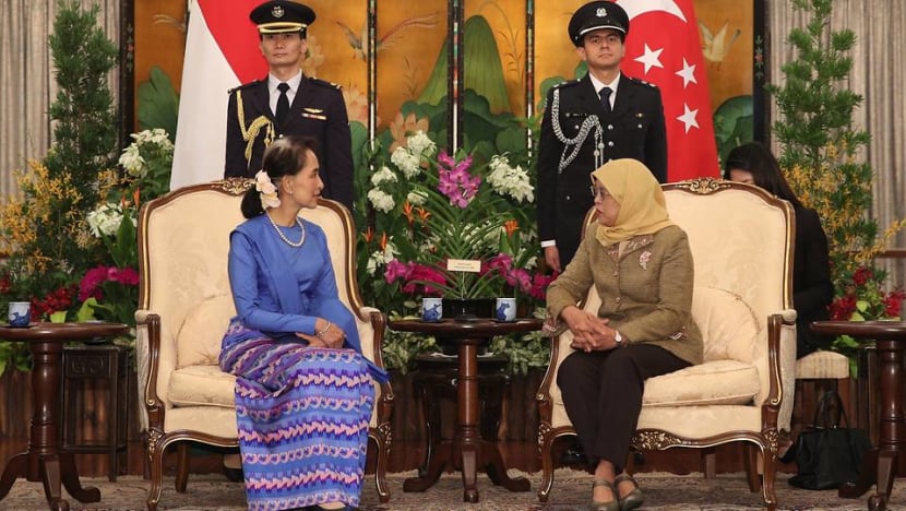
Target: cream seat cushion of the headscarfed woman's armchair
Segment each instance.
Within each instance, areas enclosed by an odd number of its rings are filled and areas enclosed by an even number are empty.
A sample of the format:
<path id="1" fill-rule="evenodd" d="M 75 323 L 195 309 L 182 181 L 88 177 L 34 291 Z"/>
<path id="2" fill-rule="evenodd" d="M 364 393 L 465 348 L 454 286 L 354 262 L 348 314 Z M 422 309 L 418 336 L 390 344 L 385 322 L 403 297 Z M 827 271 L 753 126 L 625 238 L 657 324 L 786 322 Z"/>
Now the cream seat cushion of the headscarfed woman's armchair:
<path id="1" fill-rule="evenodd" d="M 714 360 L 647 379 L 642 406 L 744 405 L 759 388 L 755 366 Z"/>

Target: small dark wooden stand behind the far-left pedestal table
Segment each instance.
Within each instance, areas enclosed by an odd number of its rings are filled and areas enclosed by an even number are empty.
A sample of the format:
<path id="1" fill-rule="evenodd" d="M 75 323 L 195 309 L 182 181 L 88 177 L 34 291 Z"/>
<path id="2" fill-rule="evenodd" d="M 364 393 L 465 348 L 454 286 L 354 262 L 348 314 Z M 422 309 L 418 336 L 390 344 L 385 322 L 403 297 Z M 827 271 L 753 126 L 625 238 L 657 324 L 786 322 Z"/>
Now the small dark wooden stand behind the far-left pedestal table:
<path id="1" fill-rule="evenodd" d="M 115 344 L 63 348 L 63 450 L 106 453 L 110 462 L 107 477 L 111 482 L 117 480 L 120 454 L 126 455 L 128 449 L 128 355 L 129 348 Z M 79 392 L 86 383 L 104 393 L 103 408 L 88 408 L 84 392 Z M 105 425 L 105 438 L 80 437 L 83 418 L 92 415 Z"/>

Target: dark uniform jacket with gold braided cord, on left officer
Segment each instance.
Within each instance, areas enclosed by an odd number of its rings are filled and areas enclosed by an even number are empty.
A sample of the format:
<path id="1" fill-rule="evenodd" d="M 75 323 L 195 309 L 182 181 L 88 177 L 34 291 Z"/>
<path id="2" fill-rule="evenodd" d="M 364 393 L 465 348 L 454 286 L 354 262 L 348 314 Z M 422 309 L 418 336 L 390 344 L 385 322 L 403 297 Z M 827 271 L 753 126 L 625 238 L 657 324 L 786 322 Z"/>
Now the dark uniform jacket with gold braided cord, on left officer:
<path id="1" fill-rule="evenodd" d="M 324 181 L 322 194 L 351 210 L 351 134 L 339 86 L 302 76 L 289 114 L 281 126 L 274 124 L 266 78 L 231 90 L 227 106 L 224 177 L 254 177 L 261 169 L 264 148 L 281 135 L 305 135 L 318 141 L 318 161 Z M 247 158 L 248 141 L 252 139 L 251 155 Z"/>

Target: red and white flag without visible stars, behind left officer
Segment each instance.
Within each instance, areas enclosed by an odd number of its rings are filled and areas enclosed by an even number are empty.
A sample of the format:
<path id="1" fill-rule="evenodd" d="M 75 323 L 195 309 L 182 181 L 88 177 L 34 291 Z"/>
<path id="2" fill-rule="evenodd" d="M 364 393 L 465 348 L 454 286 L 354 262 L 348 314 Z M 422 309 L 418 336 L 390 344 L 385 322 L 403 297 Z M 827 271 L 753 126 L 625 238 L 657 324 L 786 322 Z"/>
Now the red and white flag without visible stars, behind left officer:
<path id="1" fill-rule="evenodd" d="M 249 12 L 264 0 L 190 0 L 170 189 L 224 176 L 227 91 L 267 74 Z"/>

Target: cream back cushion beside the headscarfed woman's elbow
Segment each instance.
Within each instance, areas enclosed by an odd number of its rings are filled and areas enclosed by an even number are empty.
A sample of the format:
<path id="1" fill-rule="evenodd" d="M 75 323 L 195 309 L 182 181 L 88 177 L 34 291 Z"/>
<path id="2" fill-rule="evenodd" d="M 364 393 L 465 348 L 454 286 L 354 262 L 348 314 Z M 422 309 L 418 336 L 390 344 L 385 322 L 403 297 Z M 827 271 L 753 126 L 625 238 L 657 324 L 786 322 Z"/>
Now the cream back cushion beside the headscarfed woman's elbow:
<path id="1" fill-rule="evenodd" d="M 695 286 L 692 318 L 702 332 L 704 361 L 756 360 L 761 329 L 752 309 L 739 296 L 714 287 Z"/>

